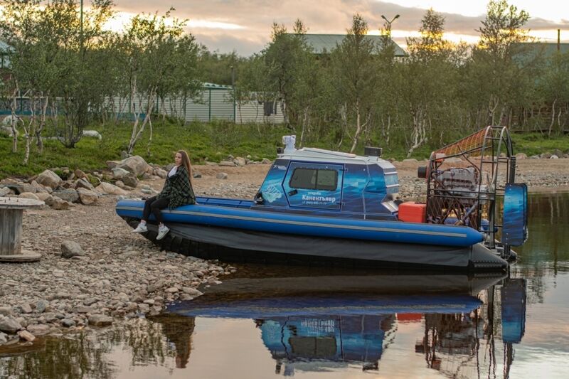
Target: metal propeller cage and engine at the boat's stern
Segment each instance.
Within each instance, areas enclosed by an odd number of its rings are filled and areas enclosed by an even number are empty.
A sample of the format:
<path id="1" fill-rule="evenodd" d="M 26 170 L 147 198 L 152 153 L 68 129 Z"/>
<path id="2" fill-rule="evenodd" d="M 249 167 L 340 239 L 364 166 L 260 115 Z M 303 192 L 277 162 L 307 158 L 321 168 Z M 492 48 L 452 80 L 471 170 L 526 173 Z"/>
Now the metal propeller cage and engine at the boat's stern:
<path id="1" fill-rule="evenodd" d="M 475 183 L 461 180 L 463 173 Z M 426 173 L 427 223 L 467 225 L 486 235 L 486 247 L 509 257 L 509 245 L 496 242 L 496 235 L 502 228 L 499 199 L 515 174 L 516 157 L 506 127 L 489 126 L 433 151 Z"/>

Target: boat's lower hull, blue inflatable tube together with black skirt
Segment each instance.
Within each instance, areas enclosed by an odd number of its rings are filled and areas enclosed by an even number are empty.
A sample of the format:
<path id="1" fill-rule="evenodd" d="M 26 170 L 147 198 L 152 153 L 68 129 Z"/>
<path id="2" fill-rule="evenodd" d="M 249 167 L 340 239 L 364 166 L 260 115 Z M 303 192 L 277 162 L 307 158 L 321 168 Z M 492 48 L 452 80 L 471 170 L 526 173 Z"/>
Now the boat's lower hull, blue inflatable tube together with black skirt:
<path id="1" fill-rule="evenodd" d="M 425 233 L 428 225 L 264 213 L 250 210 L 249 201 L 208 198 L 198 198 L 198 201 L 200 205 L 164 210 L 164 219 L 171 229 L 164 240 L 156 240 L 157 227 L 153 220 L 148 223 L 149 232 L 144 233 L 144 237 L 163 250 L 229 262 L 453 271 L 504 270 L 507 267 L 506 261 L 482 243 L 437 245 L 440 241 L 456 242 L 460 237 L 445 235 L 445 240 L 440 234 L 429 235 Z M 214 201 L 223 205 L 213 205 Z M 135 228 L 142 217 L 143 205 L 141 201 L 120 201 L 117 214 Z M 344 221 L 346 228 L 341 228 Z M 332 226 L 326 228 L 325 223 Z M 401 228 L 413 225 L 419 228 Z M 469 232 L 469 228 L 434 226 L 437 227 L 435 230 L 445 233 L 450 233 L 447 230 Z M 378 231 L 380 228 L 382 230 Z M 471 240 L 478 240 L 476 234 L 468 235 Z"/>

